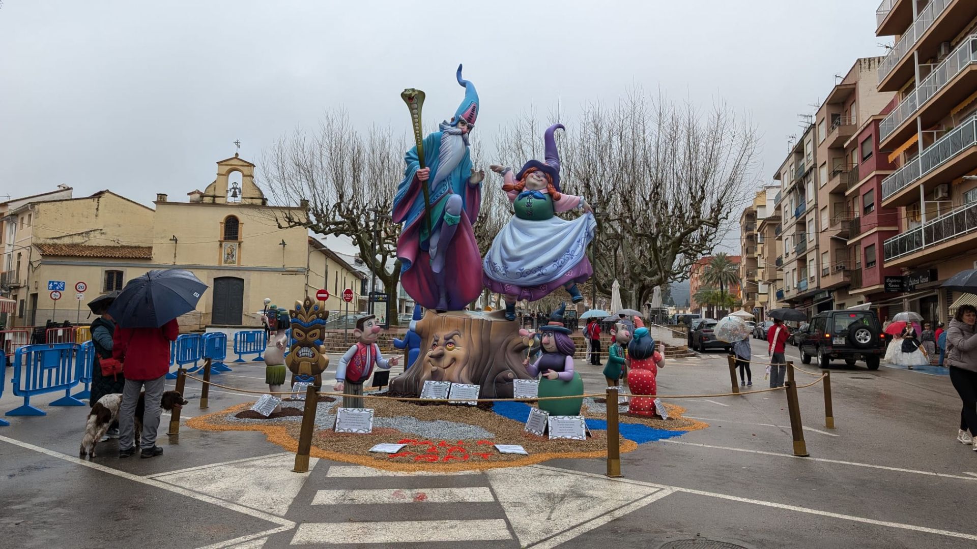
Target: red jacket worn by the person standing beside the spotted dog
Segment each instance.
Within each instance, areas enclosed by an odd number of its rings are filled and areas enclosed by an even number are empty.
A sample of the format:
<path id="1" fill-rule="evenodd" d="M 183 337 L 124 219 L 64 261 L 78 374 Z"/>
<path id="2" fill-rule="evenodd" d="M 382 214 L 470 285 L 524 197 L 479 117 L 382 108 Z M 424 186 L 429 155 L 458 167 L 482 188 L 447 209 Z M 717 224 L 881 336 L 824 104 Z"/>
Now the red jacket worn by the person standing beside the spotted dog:
<path id="1" fill-rule="evenodd" d="M 126 379 L 146 381 L 170 370 L 170 342 L 180 335 L 176 318 L 159 328 L 123 328 L 112 334 L 112 357 L 122 361 Z"/>

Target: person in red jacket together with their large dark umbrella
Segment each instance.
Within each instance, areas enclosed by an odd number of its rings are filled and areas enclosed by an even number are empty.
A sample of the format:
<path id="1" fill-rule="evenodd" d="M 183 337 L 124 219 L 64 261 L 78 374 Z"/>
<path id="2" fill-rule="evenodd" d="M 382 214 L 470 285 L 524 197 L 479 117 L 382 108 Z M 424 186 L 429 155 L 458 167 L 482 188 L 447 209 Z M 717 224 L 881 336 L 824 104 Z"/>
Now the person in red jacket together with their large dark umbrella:
<path id="1" fill-rule="evenodd" d="M 156 445 L 160 399 L 170 369 L 170 342 L 180 335 L 177 317 L 190 313 L 207 289 L 191 272 L 153 270 L 122 288 L 108 313 L 115 318 L 112 356 L 123 363 L 125 388 L 119 408 L 119 457 L 136 452 L 135 419 L 140 393 L 146 390 L 140 457 L 163 453 Z"/>

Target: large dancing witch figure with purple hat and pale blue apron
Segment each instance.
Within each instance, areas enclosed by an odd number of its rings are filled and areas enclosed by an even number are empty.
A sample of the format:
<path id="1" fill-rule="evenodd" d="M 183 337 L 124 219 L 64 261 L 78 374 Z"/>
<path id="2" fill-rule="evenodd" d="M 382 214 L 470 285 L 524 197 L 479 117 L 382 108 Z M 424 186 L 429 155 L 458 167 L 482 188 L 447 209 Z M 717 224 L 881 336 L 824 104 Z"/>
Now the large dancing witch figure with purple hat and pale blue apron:
<path id="1" fill-rule="evenodd" d="M 518 173 L 493 165 L 502 175 L 504 190 L 516 215 L 492 241 L 483 261 L 484 283 L 505 297 L 505 317 L 516 317 L 516 302 L 536 301 L 564 287 L 573 303 L 583 301 L 576 284 L 593 274 L 587 244 L 594 238 L 597 222 L 582 196 L 560 190 L 560 155 L 553 137 L 563 124 L 550 126 L 543 142 L 546 160 L 530 160 Z M 573 220 L 559 212 L 582 209 Z"/>

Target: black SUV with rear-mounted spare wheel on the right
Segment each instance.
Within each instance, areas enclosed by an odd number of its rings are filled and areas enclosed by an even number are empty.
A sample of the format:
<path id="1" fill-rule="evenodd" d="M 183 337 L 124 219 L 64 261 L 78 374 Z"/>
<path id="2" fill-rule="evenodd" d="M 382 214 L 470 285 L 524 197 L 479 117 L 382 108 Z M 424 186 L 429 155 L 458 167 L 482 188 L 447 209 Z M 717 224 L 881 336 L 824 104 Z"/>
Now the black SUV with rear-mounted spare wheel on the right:
<path id="1" fill-rule="evenodd" d="M 826 311 L 811 318 L 800 338 L 800 359 L 827 368 L 831 359 L 844 359 L 849 366 L 865 360 L 870 370 L 878 369 L 885 355 L 885 334 L 874 311 Z"/>

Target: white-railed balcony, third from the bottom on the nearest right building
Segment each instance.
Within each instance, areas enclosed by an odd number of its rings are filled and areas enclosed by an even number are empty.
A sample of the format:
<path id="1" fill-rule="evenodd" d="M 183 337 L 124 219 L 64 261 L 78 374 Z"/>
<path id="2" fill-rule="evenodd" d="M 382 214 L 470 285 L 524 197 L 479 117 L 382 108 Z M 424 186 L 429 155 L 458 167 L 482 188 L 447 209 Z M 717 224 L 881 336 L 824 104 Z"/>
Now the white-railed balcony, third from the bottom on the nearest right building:
<path id="1" fill-rule="evenodd" d="M 923 128 L 936 124 L 948 110 L 973 93 L 975 87 L 977 35 L 971 35 L 878 124 L 879 146 L 888 148 L 913 137 L 916 125 L 911 121 L 917 114 L 922 119 Z"/>

